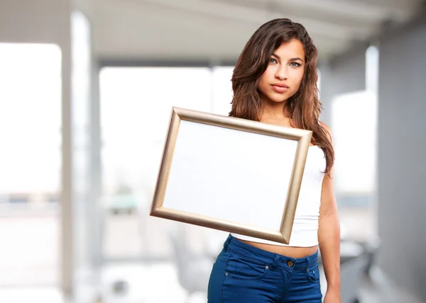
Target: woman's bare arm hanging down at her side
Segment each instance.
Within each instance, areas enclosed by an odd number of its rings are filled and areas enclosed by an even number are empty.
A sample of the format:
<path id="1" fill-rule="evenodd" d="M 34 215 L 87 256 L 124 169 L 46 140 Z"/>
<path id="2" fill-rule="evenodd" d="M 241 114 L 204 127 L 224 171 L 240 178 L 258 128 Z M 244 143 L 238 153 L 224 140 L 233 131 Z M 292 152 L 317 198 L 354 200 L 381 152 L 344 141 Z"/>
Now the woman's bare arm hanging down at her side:
<path id="1" fill-rule="evenodd" d="M 332 140 L 329 127 L 324 123 L 321 125 L 329 132 L 329 138 Z M 340 302 L 340 224 L 333 183 L 332 169 L 329 174 L 325 174 L 322 181 L 318 229 L 322 264 L 327 278 L 327 294 L 324 297 L 324 303 Z"/>

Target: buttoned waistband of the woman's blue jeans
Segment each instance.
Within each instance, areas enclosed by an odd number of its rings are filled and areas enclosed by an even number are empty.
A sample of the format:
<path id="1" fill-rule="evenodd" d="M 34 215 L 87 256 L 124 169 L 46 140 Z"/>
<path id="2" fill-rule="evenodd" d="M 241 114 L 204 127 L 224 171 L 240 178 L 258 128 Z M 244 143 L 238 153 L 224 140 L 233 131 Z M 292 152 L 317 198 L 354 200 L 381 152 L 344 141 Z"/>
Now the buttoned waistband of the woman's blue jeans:
<path id="1" fill-rule="evenodd" d="M 318 251 L 310 256 L 303 258 L 291 258 L 278 253 L 271 253 L 246 244 L 234 236 L 229 235 L 224 243 L 224 252 L 235 253 L 243 258 L 252 259 L 253 261 L 261 261 L 263 263 L 273 265 L 275 268 L 290 269 L 293 271 L 306 271 L 307 268 L 318 263 Z"/>

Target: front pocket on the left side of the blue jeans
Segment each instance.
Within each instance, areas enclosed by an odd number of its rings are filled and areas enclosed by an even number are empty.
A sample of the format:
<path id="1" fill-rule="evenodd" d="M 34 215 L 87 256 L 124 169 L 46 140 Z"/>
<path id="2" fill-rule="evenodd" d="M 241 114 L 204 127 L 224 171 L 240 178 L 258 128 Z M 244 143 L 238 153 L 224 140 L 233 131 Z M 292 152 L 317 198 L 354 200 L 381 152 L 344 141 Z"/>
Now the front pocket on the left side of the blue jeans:
<path id="1" fill-rule="evenodd" d="M 263 278 L 268 273 L 269 265 L 246 259 L 241 256 L 231 255 L 226 263 L 226 275 L 240 280 L 256 280 Z"/>

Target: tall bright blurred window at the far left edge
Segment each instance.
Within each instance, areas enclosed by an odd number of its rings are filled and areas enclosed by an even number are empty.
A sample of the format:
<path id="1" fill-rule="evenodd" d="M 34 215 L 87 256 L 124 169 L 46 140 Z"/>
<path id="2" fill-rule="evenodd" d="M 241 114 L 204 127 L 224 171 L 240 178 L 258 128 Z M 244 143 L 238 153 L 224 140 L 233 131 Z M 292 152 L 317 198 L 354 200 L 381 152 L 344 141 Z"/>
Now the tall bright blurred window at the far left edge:
<path id="1" fill-rule="evenodd" d="M 61 52 L 0 43 L 0 286 L 59 282 Z"/>

